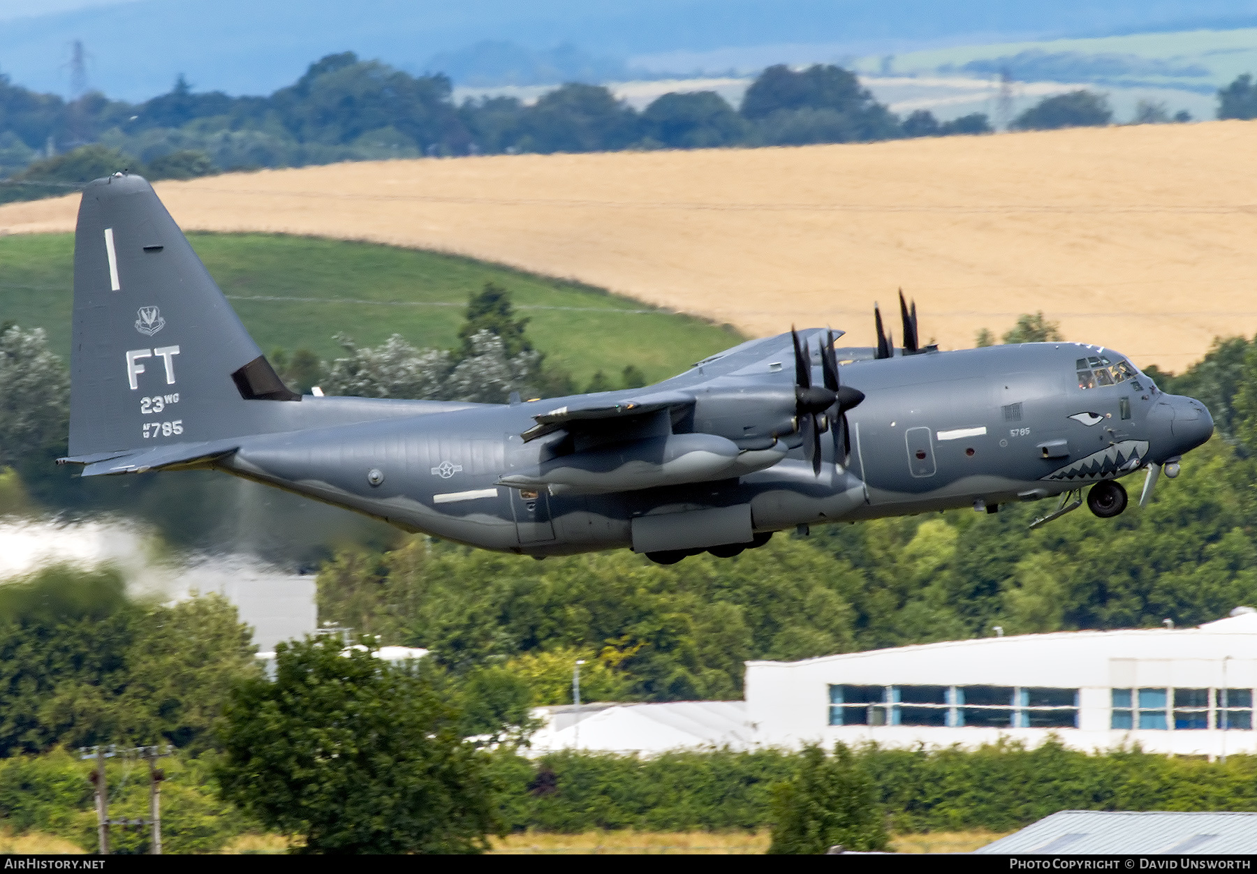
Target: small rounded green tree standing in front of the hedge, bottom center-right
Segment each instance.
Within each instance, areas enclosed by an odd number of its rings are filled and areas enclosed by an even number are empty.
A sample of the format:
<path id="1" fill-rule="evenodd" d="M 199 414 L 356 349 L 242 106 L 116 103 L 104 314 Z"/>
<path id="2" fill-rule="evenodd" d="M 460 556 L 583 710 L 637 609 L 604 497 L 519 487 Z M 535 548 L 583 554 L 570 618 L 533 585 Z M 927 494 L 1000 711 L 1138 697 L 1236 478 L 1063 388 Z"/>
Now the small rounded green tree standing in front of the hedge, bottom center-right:
<path id="1" fill-rule="evenodd" d="M 832 756 L 806 747 L 797 771 L 773 787 L 769 853 L 817 854 L 831 846 L 867 853 L 890 843 L 877 786 L 860 757 L 838 743 Z"/>

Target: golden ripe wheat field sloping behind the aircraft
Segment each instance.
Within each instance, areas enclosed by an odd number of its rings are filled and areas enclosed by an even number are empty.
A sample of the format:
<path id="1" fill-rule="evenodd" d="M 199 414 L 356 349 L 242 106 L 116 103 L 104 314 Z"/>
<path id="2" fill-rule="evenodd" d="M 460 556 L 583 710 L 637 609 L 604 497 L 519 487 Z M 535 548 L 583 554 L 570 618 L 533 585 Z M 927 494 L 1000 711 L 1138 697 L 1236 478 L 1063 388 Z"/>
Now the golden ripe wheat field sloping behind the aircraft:
<path id="1" fill-rule="evenodd" d="M 831 324 L 870 343 L 874 301 L 903 286 L 923 340 L 945 348 L 1043 310 L 1067 339 L 1180 370 L 1216 335 L 1257 333 L 1254 171 L 1257 122 L 1208 122 L 366 162 L 157 188 L 186 229 L 453 251 L 753 335 Z M 70 230 L 77 200 L 3 206 L 0 234 Z"/>

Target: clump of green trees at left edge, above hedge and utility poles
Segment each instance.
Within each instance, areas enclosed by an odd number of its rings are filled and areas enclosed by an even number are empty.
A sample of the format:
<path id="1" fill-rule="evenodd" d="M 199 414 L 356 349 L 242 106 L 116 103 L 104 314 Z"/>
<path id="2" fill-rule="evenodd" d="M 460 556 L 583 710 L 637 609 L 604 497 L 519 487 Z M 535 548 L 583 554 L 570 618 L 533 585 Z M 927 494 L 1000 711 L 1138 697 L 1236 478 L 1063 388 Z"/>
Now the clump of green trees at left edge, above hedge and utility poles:
<path id="1" fill-rule="evenodd" d="M 230 686 L 256 673 L 217 595 L 127 599 L 111 570 L 49 568 L 0 586 L 0 756 L 54 745 L 210 743 Z"/>

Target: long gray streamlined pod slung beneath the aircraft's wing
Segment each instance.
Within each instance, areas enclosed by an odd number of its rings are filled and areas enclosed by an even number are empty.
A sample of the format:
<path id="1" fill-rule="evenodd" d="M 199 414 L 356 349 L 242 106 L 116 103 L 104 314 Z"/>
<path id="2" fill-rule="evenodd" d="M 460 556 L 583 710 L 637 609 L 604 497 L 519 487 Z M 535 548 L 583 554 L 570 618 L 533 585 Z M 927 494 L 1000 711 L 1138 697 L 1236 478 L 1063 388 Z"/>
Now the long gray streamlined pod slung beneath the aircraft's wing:
<path id="1" fill-rule="evenodd" d="M 739 450 L 715 434 L 670 434 L 559 456 L 499 485 L 547 488 L 552 495 L 601 495 L 688 482 L 729 480 L 772 467 L 786 457 L 777 442 L 767 450 Z"/>

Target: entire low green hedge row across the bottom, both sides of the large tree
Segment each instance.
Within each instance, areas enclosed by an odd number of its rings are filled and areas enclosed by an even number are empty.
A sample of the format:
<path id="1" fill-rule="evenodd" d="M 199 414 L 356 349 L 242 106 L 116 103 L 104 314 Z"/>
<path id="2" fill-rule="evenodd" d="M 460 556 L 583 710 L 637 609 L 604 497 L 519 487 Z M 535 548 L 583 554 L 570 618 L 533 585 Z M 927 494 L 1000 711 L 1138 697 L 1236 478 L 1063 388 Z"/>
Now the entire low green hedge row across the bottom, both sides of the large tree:
<path id="1" fill-rule="evenodd" d="M 491 756 L 504 824 L 579 833 L 753 830 L 769 825 L 769 786 L 799 757 L 762 752 L 678 752 L 657 758 L 558 752 L 538 760 Z M 851 757 L 876 787 L 891 831 L 1009 831 L 1057 810 L 1257 810 L 1257 758 L 1226 763 L 1128 750 L 1087 755 L 1048 742 L 962 750 L 860 747 Z M 217 800 L 212 753 L 162 760 L 162 839 L 171 853 L 212 851 L 250 824 Z M 0 760 L 0 825 L 96 845 L 89 762 L 64 751 Z M 111 815 L 147 815 L 142 762 L 112 760 Z M 143 851 L 146 834 L 116 835 Z"/>

